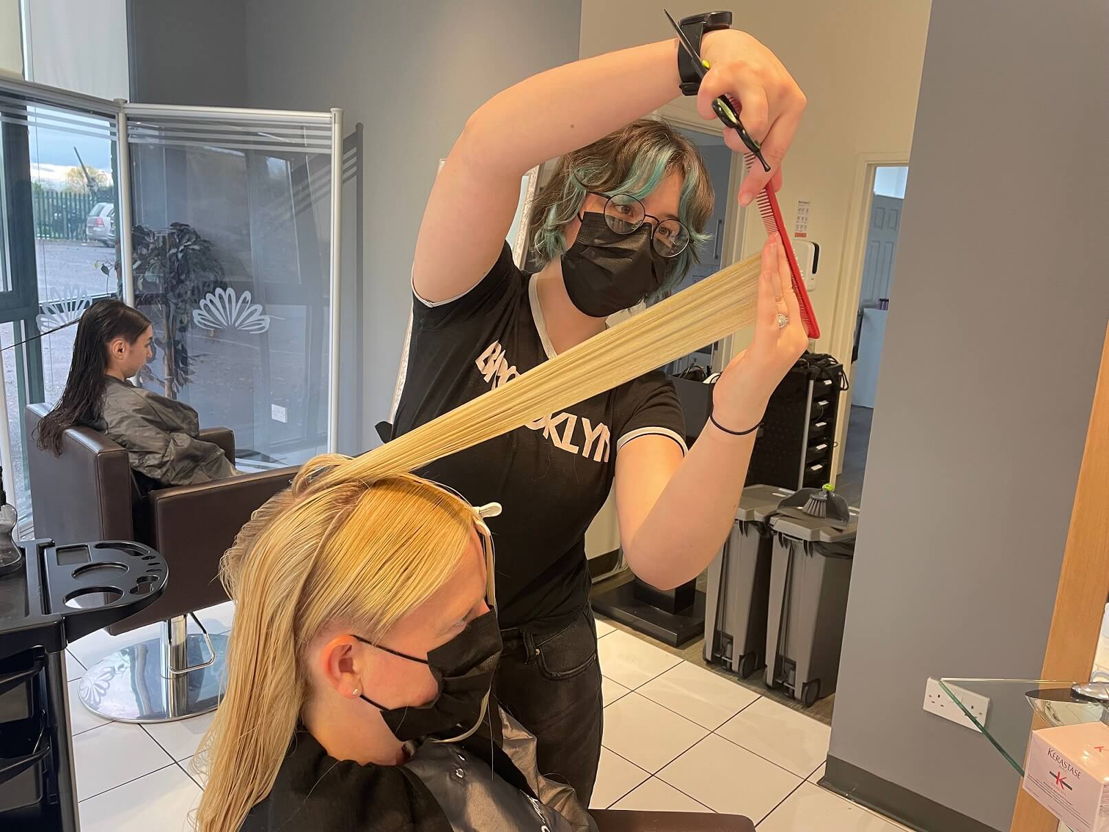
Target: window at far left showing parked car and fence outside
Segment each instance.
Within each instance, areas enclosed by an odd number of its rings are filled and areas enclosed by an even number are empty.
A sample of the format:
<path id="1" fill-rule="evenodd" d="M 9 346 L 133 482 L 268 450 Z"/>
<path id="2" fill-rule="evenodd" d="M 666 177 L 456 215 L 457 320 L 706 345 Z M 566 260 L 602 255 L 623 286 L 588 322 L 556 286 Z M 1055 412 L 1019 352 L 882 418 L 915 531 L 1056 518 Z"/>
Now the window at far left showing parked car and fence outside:
<path id="1" fill-rule="evenodd" d="M 0 84 L 0 346 L 12 449 L 7 479 L 24 515 L 23 408 L 61 395 L 75 327 L 34 336 L 115 292 L 115 281 L 100 268 L 115 264 L 119 242 L 115 118 L 103 103 Z"/>

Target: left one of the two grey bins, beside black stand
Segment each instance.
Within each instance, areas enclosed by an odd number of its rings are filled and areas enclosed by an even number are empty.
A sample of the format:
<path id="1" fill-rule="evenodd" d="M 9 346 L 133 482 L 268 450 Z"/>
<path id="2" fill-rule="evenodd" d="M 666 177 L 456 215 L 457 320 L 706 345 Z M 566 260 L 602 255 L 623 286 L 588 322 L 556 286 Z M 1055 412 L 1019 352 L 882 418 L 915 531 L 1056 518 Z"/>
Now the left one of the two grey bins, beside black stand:
<path id="1" fill-rule="evenodd" d="M 773 550 L 767 520 L 791 494 L 776 486 L 744 488 L 732 532 L 709 567 L 704 660 L 743 679 L 765 664 Z"/>

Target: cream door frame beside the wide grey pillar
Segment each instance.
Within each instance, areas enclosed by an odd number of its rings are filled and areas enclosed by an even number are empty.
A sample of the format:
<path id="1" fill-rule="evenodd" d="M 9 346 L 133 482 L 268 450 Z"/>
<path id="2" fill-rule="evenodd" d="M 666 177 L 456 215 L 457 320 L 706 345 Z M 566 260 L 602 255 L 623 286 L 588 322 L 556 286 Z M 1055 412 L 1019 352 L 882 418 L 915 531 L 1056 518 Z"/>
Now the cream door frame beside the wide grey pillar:
<path id="1" fill-rule="evenodd" d="M 874 203 L 874 177 L 878 168 L 901 168 L 909 164 L 909 152 L 872 151 L 855 156 L 855 176 L 847 205 L 847 229 L 844 232 L 843 260 L 836 286 L 835 306 L 831 322 L 827 352 L 838 357 L 849 382 L 854 375 L 851 362 L 852 341 L 855 337 L 855 315 L 858 293 L 863 288 L 863 266 L 866 263 L 866 237 L 869 232 L 871 207 Z M 835 417 L 835 436 L 832 444 L 832 475 L 843 470 L 843 451 L 847 438 L 847 415 L 851 413 L 851 392 L 840 396 Z"/>

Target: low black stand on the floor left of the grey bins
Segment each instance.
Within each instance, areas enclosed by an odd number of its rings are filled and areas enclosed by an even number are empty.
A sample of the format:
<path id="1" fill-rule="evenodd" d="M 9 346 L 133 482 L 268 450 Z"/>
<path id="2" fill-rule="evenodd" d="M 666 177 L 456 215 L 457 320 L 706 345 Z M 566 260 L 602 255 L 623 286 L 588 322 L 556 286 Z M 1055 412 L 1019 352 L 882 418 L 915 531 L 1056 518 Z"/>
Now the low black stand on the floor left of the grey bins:
<path id="1" fill-rule="evenodd" d="M 704 636 L 704 592 L 696 581 L 660 592 L 639 578 L 593 598 L 593 610 L 637 632 L 682 647 Z"/>

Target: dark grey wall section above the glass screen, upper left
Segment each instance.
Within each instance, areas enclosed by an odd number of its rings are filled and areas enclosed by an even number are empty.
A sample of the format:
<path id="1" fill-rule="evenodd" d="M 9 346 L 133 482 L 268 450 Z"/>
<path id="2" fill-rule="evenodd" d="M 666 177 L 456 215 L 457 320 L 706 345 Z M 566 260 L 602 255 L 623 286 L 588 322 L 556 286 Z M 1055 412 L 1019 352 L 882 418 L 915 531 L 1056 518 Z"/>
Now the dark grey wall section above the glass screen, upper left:
<path id="1" fill-rule="evenodd" d="M 131 101 L 244 106 L 244 0 L 129 0 Z"/>

